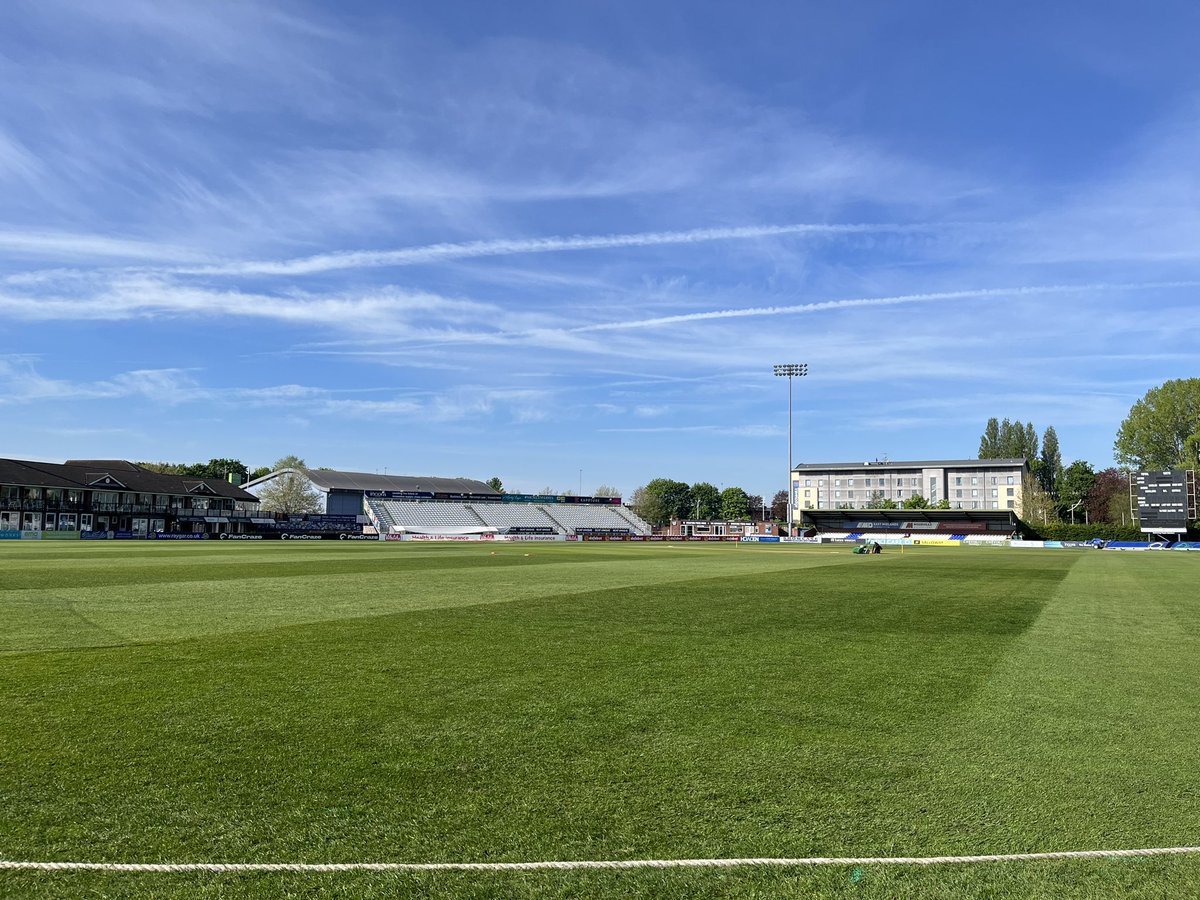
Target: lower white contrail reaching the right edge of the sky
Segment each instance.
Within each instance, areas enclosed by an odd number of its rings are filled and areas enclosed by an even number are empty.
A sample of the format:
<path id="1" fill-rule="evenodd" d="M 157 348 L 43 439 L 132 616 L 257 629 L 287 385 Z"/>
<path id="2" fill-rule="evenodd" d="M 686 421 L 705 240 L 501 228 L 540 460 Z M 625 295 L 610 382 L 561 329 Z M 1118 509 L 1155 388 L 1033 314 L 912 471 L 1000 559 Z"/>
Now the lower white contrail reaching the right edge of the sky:
<path id="1" fill-rule="evenodd" d="M 922 304 L 938 300 L 972 300 L 989 296 L 1019 296 L 1038 294 L 1082 294 L 1088 292 L 1112 290 L 1152 290 L 1156 288 L 1195 288 L 1200 281 L 1147 281 L 1130 283 L 1099 284 L 1032 284 L 1015 288 L 974 288 L 971 290 L 942 290 L 926 294 L 899 294 L 896 296 L 856 298 L 850 300 L 824 300 L 815 304 L 797 304 L 794 306 L 750 306 L 734 310 L 713 310 L 709 312 L 689 312 L 679 316 L 658 316 L 648 319 L 628 319 L 625 322 L 602 322 L 595 325 L 580 325 L 566 329 L 571 332 L 582 331 L 620 331 L 636 328 L 655 328 L 658 325 L 677 325 L 688 322 L 708 319 L 740 319 L 754 316 L 792 316 L 806 312 L 824 312 L 827 310 L 850 310 L 858 306 L 899 306 L 901 304 Z"/>

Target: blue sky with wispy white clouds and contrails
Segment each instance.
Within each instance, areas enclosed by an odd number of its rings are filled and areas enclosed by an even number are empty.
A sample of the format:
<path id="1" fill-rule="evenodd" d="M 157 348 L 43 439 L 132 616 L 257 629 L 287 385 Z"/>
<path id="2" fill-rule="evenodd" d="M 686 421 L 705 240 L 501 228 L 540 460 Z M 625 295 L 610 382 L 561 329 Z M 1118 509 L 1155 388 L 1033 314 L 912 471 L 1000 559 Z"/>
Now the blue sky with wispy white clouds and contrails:
<path id="1" fill-rule="evenodd" d="M 0 456 L 1111 463 L 1200 362 L 1200 7 L 0 8 Z"/>

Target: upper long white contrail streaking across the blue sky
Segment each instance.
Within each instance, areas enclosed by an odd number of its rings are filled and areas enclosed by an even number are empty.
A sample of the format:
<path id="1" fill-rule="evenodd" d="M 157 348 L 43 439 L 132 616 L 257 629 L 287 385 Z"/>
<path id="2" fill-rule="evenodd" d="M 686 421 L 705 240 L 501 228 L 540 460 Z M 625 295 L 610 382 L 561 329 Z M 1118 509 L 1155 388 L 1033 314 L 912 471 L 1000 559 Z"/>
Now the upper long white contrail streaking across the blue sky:
<path id="1" fill-rule="evenodd" d="M 904 234 L 949 228 L 942 224 L 782 224 L 745 226 L 740 228 L 696 228 L 689 232 L 642 232 L 638 234 L 574 235 L 556 238 L 502 239 L 467 241 L 463 244 L 430 244 L 402 250 L 362 250 L 342 253 L 320 253 L 295 259 L 259 259 L 217 263 L 214 265 L 180 266 L 179 275 L 316 275 L 340 269 L 378 269 L 385 266 L 422 265 L 452 259 L 502 257 L 518 253 L 559 253 L 577 250 L 613 250 L 619 247 L 655 247 L 672 244 L 774 238 L 786 234 Z M 962 223 L 958 223 L 961 227 Z"/>

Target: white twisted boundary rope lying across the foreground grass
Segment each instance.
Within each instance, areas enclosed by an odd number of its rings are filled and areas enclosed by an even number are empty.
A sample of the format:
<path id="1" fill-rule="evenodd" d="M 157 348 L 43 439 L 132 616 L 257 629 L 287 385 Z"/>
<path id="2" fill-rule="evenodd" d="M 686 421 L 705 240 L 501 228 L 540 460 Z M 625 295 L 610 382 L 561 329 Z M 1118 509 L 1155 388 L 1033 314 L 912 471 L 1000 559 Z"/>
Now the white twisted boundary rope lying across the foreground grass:
<path id="1" fill-rule="evenodd" d="M 106 872 L 436 872 L 570 871 L 580 869 L 737 869 L 814 865 L 962 865 L 1054 859 L 1121 859 L 1200 853 L 1200 847 L 1147 850 L 1069 850 L 1049 853 L 996 853 L 964 857 L 750 857 L 744 859 L 601 859 L 541 863 L 46 863 L 0 859 L 0 870 Z"/>

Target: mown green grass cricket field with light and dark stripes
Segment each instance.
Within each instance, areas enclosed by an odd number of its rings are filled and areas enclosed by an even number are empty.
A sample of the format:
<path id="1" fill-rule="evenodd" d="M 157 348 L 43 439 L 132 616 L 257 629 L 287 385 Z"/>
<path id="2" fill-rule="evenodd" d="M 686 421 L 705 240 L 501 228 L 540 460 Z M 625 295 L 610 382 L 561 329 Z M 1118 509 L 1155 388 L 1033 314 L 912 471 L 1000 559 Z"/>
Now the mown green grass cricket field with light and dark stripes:
<path id="1" fill-rule="evenodd" d="M 1200 845 L 1198 574 L 1099 551 L 0 545 L 0 858 Z M 0 895 L 1181 898 L 1200 857 L 0 871 Z"/>

